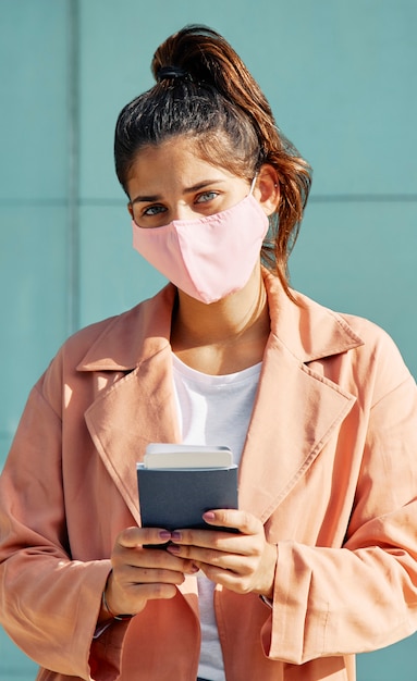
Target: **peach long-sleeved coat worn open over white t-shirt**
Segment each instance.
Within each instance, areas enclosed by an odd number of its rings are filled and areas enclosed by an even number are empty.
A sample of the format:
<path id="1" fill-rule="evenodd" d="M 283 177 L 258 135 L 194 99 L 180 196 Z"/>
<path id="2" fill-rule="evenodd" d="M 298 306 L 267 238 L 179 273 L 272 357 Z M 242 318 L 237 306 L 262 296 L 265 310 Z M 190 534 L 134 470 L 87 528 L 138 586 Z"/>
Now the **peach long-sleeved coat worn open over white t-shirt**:
<path id="1" fill-rule="evenodd" d="M 240 506 L 277 545 L 273 607 L 217 589 L 228 681 L 353 681 L 354 653 L 417 629 L 417 393 L 389 336 L 266 276 L 271 333 Z M 1 476 L 0 619 L 64 681 L 195 681 L 196 579 L 94 640 L 135 463 L 179 441 L 175 288 L 70 338 L 34 387 Z"/>

